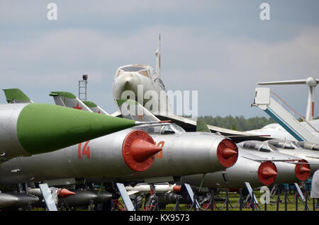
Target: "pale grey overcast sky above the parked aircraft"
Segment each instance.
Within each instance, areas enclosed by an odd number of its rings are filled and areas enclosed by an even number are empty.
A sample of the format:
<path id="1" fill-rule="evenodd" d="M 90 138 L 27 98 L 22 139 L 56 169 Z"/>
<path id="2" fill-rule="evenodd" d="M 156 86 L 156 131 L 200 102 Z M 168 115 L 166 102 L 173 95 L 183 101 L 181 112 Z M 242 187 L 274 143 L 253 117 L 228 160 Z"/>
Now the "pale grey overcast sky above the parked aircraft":
<path id="1" fill-rule="evenodd" d="M 47 19 L 50 2 L 56 21 Z M 264 2 L 269 21 L 259 17 Z M 250 107 L 259 81 L 319 79 L 318 9 L 317 0 L 1 0 L 1 89 L 21 88 L 53 104 L 50 91 L 77 96 L 79 79 L 89 74 L 87 100 L 113 113 L 116 69 L 155 67 L 161 33 L 162 81 L 168 90 L 198 91 L 199 115 L 267 116 Z M 271 88 L 306 114 L 307 86 Z"/>

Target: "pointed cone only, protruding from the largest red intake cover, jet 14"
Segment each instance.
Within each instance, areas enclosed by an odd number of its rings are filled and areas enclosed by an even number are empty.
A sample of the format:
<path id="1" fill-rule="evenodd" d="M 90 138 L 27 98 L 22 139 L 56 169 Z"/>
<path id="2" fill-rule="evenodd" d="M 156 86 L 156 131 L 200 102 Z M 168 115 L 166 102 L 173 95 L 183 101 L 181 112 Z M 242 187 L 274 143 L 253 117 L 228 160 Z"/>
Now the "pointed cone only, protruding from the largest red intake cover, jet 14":
<path id="1" fill-rule="evenodd" d="M 154 156 L 161 150 L 162 148 L 159 148 L 155 144 L 151 144 L 143 139 L 136 139 L 130 146 L 130 154 L 139 163 L 142 163 L 147 160 L 147 158 Z"/>

